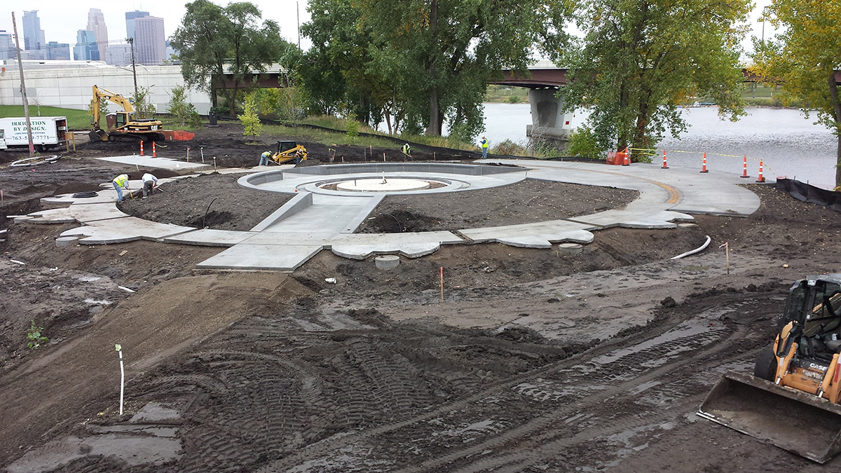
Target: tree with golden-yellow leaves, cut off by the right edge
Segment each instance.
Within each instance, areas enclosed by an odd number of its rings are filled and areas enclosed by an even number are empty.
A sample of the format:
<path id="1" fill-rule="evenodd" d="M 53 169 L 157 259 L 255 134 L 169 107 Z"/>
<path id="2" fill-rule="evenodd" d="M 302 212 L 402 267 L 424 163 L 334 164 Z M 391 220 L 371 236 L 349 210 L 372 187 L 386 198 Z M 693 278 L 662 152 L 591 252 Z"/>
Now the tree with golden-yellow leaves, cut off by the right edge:
<path id="1" fill-rule="evenodd" d="M 780 86 L 783 104 L 799 101 L 806 112 L 838 136 L 835 186 L 841 190 L 841 3 L 774 0 L 765 19 L 782 32 L 770 40 L 754 37 L 754 66 L 763 80 Z"/>

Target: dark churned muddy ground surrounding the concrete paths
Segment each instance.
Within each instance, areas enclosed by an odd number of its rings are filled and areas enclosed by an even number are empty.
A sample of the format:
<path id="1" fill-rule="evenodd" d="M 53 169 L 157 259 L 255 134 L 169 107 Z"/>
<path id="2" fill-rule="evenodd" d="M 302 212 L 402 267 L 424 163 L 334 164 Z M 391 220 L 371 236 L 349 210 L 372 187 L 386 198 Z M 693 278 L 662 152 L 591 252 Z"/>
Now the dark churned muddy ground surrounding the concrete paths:
<path id="1" fill-rule="evenodd" d="M 189 144 L 204 146 L 206 158 L 217 155 L 218 166 L 223 157 L 225 166 L 256 164 L 265 145 L 247 145 L 236 133 L 226 124 Z M 93 159 L 113 144 L 80 146 L 51 165 L 0 166 L 0 214 L 40 210 L 40 197 L 97 189 L 118 172 L 142 173 Z M 171 146 L 158 151 L 183 144 Z M 319 156 L 318 146 L 305 146 Z M 369 152 L 348 147 L 345 156 L 362 161 Z M 447 157 L 436 152 L 436 159 Z M 225 201 L 245 190 L 225 176 L 191 179 L 127 200 L 124 210 L 184 224 L 218 198 L 212 225 L 243 229 L 279 205 Z M 543 205 L 574 215 L 632 199 L 616 189 L 534 184 L 469 205 L 410 198 L 384 205 L 413 215 L 407 222 L 421 222 L 422 231 L 463 228 L 468 219 L 505 214 L 511 202 L 530 205 L 528 215 L 547 211 Z M 186 186 L 195 188 L 194 202 L 167 204 L 183 200 Z M 402 258 L 391 271 L 331 252 L 293 274 L 204 271 L 195 264 L 220 248 L 145 241 L 59 248 L 55 237 L 75 225 L 3 218 L 0 465 L 836 470 L 841 460 L 819 466 L 695 415 L 723 372 L 752 369 L 791 280 L 841 270 L 841 215 L 770 186 L 747 187 L 762 199 L 747 218 L 697 215 L 692 228 L 596 231 L 574 255 L 445 246 Z M 575 198 L 558 199 L 567 191 Z M 235 227 L 225 214 L 233 210 L 241 215 Z M 669 259 L 706 236 L 705 252 Z M 30 321 L 50 337 L 41 348 L 26 346 Z M 122 416 L 114 343 L 125 357 Z"/>

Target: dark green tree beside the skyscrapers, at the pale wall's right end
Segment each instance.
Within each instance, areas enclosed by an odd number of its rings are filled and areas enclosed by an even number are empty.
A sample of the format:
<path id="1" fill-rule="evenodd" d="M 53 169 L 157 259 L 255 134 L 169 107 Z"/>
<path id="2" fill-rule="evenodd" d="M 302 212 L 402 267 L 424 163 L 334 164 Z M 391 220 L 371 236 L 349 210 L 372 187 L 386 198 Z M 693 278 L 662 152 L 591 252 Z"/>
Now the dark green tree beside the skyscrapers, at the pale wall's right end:
<path id="1" fill-rule="evenodd" d="M 274 21 L 257 23 L 261 13 L 252 3 L 236 2 L 222 8 L 208 0 L 195 0 L 186 8 L 181 26 L 172 35 L 184 81 L 206 90 L 213 107 L 218 106 L 215 91 L 221 89 L 233 118 L 237 93 L 293 46 L 280 37 Z"/>

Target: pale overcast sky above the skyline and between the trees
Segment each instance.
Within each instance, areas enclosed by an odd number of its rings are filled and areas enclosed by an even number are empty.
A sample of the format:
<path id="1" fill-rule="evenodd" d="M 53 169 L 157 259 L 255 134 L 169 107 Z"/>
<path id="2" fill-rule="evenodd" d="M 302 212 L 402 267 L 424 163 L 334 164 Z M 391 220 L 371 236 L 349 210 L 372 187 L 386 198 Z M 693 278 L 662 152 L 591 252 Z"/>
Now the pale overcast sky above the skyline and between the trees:
<path id="1" fill-rule="evenodd" d="M 44 30 L 47 42 L 56 41 L 69 43 L 72 46 L 76 43 L 76 32 L 78 29 L 87 29 L 87 11 L 89 8 L 99 8 L 103 11 L 105 24 L 108 26 L 108 42 L 121 41 L 125 39 L 125 12 L 140 10 L 149 12 L 151 16 L 164 19 L 167 39 L 175 32 L 181 24 L 184 16 L 184 5 L 176 0 L 173 3 L 161 2 L 126 2 L 108 3 L 107 1 L 76 0 L 28 0 L 25 5 L 27 11 L 38 10 L 38 17 L 41 20 L 41 29 Z M 220 5 L 227 2 L 217 1 Z M 251 3 L 260 8 L 263 19 L 273 19 L 280 25 L 280 34 L 283 38 L 292 42 L 298 42 L 298 14 L 300 23 L 309 21 L 309 13 L 306 11 L 307 0 L 252 0 Z M 753 35 L 762 35 L 762 24 L 756 20 L 762 13 L 762 8 L 768 5 L 770 0 L 757 0 L 754 12 L 751 14 L 749 25 L 753 29 Z M 18 23 L 18 31 L 23 40 L 23 10 L 15 11 L 15 19 Z M 0 13 L 0 29 L 12 32 L 12 13 L 6 10 Z M 765 24 L 765 36 L 773 34 L 770 24 Z M 305 38 L 301 39 L 301 46 L 306 50 L 310 42 Z M 21 41 L 23 47 L 23 41 Z M 743 40 L 743 47 L 751 49 L 750 36 Z"/>

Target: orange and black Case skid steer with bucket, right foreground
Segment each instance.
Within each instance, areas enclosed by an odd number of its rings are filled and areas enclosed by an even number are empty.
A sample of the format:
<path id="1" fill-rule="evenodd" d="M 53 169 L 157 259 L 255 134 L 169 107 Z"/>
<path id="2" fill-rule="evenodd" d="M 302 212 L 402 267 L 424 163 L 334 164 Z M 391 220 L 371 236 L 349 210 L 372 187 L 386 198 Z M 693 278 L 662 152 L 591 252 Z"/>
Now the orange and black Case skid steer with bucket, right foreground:
<path id="1" fill-rule="evenodd" d="M 841 274 L 797 281 L 754 375 L 727 373 L 698 415 L 824 463 L 841 450 Z"/>

